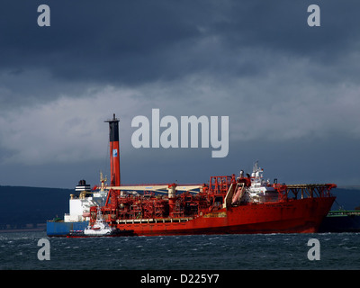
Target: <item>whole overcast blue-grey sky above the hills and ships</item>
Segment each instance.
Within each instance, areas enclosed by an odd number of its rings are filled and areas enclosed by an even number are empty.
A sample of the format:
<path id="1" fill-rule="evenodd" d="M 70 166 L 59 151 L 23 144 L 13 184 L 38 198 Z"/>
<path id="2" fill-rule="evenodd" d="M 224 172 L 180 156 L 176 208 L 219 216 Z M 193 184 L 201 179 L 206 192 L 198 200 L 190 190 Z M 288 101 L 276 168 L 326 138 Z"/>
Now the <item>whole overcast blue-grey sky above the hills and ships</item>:
<path id="1" fill-rule="evenodd" d="M 112 113 L 124 184 L 205 183 L 256 160 L 271 181 L 360 184 L 359 11 L 350 0 L 5 1 L 0 184 L 98 184 Z M 228 156 L 134 148 L 131 120 L 153 108 L 229 116 Z"/>

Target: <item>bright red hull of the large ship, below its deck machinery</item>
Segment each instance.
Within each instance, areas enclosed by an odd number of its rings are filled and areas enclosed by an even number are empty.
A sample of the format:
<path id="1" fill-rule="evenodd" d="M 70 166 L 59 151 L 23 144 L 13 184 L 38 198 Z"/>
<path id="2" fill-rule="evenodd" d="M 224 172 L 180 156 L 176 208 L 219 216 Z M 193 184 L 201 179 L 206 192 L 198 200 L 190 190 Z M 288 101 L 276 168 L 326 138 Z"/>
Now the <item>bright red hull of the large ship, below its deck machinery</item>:
<path id="1" fill-rule="evenodd" d="M 335 197 L 249 203 L 191 218 L 121 220 L 118 229 L 134 235 L 314 233 Z"/>

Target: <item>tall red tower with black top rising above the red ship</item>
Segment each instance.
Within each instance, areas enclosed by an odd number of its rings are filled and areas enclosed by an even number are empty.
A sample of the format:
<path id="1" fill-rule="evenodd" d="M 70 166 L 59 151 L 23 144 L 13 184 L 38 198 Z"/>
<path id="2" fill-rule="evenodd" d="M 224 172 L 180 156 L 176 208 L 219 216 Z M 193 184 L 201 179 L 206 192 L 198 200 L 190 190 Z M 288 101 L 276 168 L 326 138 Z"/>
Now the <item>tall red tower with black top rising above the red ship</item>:
<path id="1" fill-rule="evenodd" d="M 110 168 L 112 186 L 120 186 L 120 150 L 119 150 L 119 119 L 113 114 L 112 119 L 106 120 L 109 123 L 110 140 Z"/>

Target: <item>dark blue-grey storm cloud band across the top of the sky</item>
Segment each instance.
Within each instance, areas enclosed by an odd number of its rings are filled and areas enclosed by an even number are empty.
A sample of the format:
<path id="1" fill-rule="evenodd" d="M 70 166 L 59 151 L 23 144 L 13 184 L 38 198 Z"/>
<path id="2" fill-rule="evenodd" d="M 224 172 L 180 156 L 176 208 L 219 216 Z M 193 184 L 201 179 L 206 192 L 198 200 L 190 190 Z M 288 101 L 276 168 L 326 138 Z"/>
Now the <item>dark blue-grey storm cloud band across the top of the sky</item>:
<path id="1" fill-rule="evenodd" d="M 321 3 L 319 29 L 306 23 L 311 1 L 41 2 L 51 9 L 49 28 L 36 24 L 39 4 L 3 4 L 0 67 L 8 73 L 44 68 L 66 81 L 114 85 L 199 71 L 241 76 L 269 68 L 256 63 L 255 53 L 245 63 L 232 62 L 243 49 L 275 50 L 326 65 L 359 39 L 355 1 Z"/>

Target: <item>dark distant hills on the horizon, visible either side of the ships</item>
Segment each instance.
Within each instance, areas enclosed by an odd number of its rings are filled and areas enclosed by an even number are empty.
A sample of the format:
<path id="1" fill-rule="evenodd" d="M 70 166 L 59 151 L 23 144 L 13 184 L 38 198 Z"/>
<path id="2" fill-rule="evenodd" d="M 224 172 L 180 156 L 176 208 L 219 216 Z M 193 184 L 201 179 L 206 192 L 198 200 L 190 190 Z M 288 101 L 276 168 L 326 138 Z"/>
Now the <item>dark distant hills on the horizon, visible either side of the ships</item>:
<path id="1" fill-rule="evenodd" d="M 21 229 L 27 224 L 46 223 L 57 216 L 63 219 L 64 213 L 68 213 L 71 193 L 75 193 L 74 190 L 0 186 L 0 229 Z M 355 210 L 360 206 L 360 188 L 336 188 L 332 193 L 337 196 L 332 210 L 338 210 L 339 206 Z"/>

